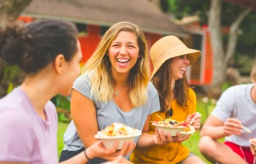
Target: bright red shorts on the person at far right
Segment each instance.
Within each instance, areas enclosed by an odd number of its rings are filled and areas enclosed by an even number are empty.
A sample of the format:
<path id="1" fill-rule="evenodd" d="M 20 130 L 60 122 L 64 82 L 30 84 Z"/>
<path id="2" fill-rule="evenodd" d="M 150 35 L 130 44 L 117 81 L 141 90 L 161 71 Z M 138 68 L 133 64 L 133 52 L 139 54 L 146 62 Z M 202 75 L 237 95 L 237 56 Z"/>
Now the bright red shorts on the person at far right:
<path id="1" fill-rule="evenodd" d="M 237 153 L 239 156 L 242 157 L 246 162 L 249 164 L 253 164 L 254 156 L 251 153 L 250 147 L 240 147 L 239 145 L 236 145 L 231 142 L 224 142 L 227 146 L 229 146 L 235 153 Z"/>

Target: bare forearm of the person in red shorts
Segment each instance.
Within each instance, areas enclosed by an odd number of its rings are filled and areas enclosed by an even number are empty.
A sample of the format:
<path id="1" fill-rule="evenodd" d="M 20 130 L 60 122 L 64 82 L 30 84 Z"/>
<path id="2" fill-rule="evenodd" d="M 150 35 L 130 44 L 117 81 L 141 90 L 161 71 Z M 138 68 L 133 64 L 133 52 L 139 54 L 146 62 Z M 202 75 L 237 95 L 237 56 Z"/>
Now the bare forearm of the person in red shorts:
<path id="1" fill-rule="evenodd" d="M 223 126 L 204 126 L 201 130 L 200 136 L 209 136 L 214 140 L 221 139 L 225 137 Z"/>

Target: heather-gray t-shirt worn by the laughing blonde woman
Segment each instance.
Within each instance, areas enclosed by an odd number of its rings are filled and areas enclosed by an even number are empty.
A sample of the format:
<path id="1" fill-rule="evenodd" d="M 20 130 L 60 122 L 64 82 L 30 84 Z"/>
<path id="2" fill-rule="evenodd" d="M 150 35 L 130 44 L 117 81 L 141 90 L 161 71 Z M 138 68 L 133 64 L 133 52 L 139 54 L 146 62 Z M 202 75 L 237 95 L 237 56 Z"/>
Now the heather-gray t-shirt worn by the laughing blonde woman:
<path id="1" fill-rule="evenodd" d="M 75 80 L 73 88 L 94 102 L 99 130 L 104 129 L 114 122 L 120 122 L 129 127 L 142 130 L 147 116 L 160 110 L 158 93 L 151 82 L 148 82 L 148 100 L 146 104 L 142 107 L 133 108 L 129 112 L 123 112 L 113 100 L 110 100 L 107 103 L 96 101 L 91 95 L 90 83 L 91 80 L 89 76 L 82 75 Z M 86 110 L 86 108 L 84 110 Z M 139 137 L 135 139 L 135 143 L 137 143 L 138 138 Z M 78 137 L 73 120 L 64 133 L 64 143 L 63 150 L 78 151 L 84 147 L 82 141 Z"/>

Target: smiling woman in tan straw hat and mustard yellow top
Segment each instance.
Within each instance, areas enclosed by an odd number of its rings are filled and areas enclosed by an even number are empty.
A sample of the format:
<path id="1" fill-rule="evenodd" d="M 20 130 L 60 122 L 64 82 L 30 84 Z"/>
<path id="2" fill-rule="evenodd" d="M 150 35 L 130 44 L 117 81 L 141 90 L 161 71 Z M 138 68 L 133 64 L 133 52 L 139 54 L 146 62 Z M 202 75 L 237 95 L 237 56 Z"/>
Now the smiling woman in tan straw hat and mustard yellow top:
<path id="1" fill-rule="evenodd" d="M 200 51 L 189 49 L 176 36 L 166 36 L 159 39 L 150 49 L 150 57 L 154 70 L 151 81 L 158 90 L 161 110 L 153 113 L 151 121 L 158 118 L 171 117 L 177 121 L 190 122 L 196 115 L 195 92 L 189 88 L 185 71 L 200 56 Z M 200 114 L 195 116 L 192 125 L 200 128 Z M 149 133 L 154 133 L 155 127 L 149 126 Z M 161 132 L 160 132 L 161 133 Z M 189 136 L 181 137 L 177 133 L 163 145 L 152 144 L 147 149 L 136 148 L 131 156 L 133 163 L 158 163 L 158 164 L 187 164 L 203 163 L 182 145 Z M 170 142 L 169 142 L 170 141 Z"/>

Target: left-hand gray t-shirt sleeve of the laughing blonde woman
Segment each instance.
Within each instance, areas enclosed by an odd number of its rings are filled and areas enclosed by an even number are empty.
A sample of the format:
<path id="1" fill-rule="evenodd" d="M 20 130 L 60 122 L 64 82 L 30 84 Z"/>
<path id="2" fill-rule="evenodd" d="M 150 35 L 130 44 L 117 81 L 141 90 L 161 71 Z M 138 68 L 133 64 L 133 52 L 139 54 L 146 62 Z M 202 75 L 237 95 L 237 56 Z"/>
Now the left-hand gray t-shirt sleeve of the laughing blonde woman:
<path id="1" fill-rule="evenodd" d="M 89 75 L 79 76 L 73 84 L 73 89 L 76 89 L 88 99 L 94 101 L 93 95 L 91 95 L 91 80 Z"/>

